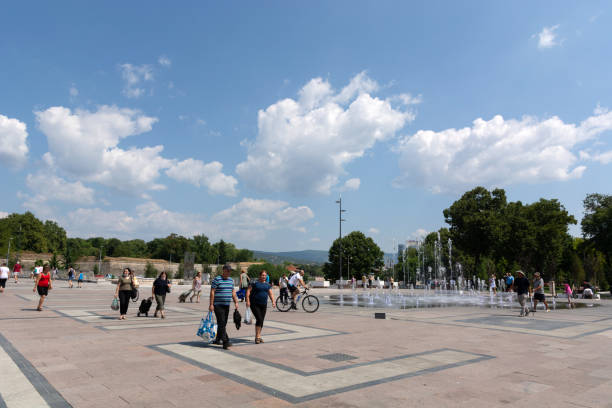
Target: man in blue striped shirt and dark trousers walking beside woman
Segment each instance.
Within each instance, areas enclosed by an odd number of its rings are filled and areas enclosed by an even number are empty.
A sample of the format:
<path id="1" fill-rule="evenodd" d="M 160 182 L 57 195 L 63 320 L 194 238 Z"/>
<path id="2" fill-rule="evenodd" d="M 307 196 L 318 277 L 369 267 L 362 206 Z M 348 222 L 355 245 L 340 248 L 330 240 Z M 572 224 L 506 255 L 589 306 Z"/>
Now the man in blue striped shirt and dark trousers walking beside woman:
<path id="1" fill-rule="evenodd" d="M 217 338 L 215 344 L 223 343 L 223 348 L 228 349 L 232 344 L 227 336 L 225 326 L 229 317 L 229 306 L 232 300 L 238 309 L 238 297 L 234 289 L 234 280 L 230 278 L 232 268 L 229 264 L 223 265 L 223 274 L 215 277 L 210 284 L 210 306 L 208 310 L 215 312 L 217 319 Z"/>

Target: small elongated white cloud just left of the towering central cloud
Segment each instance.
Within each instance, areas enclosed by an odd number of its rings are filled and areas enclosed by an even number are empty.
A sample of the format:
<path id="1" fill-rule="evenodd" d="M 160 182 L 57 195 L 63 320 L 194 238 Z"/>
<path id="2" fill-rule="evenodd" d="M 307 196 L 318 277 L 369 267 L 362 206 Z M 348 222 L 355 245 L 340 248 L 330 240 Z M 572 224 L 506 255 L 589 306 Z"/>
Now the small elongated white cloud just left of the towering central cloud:
<path id="1" fill-rule="evenodd" d="M 211 194 L 235 196 L 238 180 L 223 174 L 223 165 L 218 161 L 204 163 L 201 160 L 187 159 L 174 164 L 166 174 L 178 181 L 205 186 Z"/>

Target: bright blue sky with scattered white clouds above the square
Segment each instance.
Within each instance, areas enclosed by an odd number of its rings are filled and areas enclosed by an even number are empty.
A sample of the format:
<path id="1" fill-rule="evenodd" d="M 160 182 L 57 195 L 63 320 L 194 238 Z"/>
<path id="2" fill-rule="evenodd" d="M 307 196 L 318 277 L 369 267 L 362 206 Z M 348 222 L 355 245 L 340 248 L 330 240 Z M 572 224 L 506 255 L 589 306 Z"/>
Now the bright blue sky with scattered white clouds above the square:
<path id="1" fill-rule="evenodd" d="M 386 251 L 477 185 L 610 194 L 609 2 L 19 2 L 0 16 L 0 216 Z M 574 235 L 580 234 L 573 227 Z"/>

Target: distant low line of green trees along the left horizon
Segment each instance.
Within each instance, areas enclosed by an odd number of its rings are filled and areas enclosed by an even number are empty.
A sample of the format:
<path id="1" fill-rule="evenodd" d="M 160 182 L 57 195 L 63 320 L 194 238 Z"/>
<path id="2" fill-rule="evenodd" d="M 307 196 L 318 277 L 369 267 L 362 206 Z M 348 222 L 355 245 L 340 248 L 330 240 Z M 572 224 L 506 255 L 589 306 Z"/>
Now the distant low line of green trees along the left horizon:
<path id="1" fill-rule="evenodd" d="M 238 249 L 230 242 L 211 243 L 204 234 L 187 238 L 170 234 L 149 242 L 142 239 L 122 241 L 117 238 L 68 238 L 64 228 L 54 221 L 41 221 L 31 212 L 10 214 L 0 219 L 0 251 L 7 253 L 9 240 L 11 253 L 33 251 L 52 253 L 66 265 L 82 256 L 134 257 L 166 259 L 182 262 L 185 252 L 193 252 L 195 263 L 216 264 L 253 261 L 253 251 Z M 15 259 L 13 256 L 11 259 Z M 59 262 L 59 261 L 57 261 Z"/>

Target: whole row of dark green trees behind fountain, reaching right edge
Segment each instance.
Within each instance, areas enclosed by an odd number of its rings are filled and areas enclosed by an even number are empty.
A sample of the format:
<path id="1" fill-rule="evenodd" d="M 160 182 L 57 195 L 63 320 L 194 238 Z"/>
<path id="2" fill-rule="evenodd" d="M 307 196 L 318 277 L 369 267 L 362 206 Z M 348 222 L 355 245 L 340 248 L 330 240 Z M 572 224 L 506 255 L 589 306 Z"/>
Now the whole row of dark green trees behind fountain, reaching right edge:
<path id="1" fill-rule="evenodd" d="M 508 202 L 503 189 L 477 187 L 445 209 L 448 228 L 424 239 L 425 270 L 434 267 L 434 246 L 440 235 L 441 264 L 461 265 L 464 276 L 498 277 L 518 269 L 528 274 L 539 271 L 546 280 L 580 284 L 588 280 L 602 289 L 612 282 L 612 196 L 589 194 L 584 199 L 582 238 L 572 237 L 568 228 L 576 224 L 556 199 L 532 204 Z M 448 239 L 452 242 L 449 265 Z M 414 282 L 423 258 L 417 249 L 400 255 L 393 273 L 403 279 L 407 271 Z M 427 272 L 426 272 L 427 273 Z"/>

